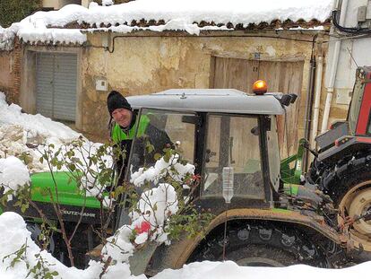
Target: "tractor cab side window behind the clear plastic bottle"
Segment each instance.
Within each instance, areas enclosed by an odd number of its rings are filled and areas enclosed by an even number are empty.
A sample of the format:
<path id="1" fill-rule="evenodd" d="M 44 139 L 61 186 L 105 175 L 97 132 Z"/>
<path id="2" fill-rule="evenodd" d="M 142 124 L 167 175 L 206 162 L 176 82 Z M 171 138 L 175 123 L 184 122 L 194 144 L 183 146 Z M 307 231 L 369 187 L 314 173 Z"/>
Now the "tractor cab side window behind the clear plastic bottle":
<path id="1" fill-rule="evenodd" d="M 263 199 L 258 119 L 209 115 L 203 159 L 203 193 L 222 196 L 222 170 L 234 170 L 234 196 Z"/>

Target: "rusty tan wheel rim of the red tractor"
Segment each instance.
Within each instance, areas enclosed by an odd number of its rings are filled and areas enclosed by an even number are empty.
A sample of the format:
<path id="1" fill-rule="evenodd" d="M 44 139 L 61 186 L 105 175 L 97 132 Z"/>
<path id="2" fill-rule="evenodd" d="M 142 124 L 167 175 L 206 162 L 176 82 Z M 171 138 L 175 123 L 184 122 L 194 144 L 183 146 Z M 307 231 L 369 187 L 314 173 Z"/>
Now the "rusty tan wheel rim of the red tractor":
<path id="1" fill-rule="evenodd" d="M 341 195 L 335 200 L 339 206 L 339 222 L 343 217 L 357 218 L 371 211 L 371 172 L 358 172 L 348 178 L 341 187 Z M 365 251 L 371 252 L 371 220 L 354 222 L 349 232 L 356 246 L 360 244 Z"/>

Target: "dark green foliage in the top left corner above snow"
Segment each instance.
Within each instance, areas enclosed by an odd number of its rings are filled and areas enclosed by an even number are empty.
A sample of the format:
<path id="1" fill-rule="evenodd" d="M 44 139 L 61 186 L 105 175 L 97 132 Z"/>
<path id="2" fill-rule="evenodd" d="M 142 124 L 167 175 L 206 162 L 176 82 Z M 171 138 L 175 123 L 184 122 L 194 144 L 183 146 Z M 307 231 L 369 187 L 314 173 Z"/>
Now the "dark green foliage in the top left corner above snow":
<path id="1" fill-rule="evenodd" d="M 0 25 L 4 28 L 37 11 L 41 0 L 0 0 Z"/>

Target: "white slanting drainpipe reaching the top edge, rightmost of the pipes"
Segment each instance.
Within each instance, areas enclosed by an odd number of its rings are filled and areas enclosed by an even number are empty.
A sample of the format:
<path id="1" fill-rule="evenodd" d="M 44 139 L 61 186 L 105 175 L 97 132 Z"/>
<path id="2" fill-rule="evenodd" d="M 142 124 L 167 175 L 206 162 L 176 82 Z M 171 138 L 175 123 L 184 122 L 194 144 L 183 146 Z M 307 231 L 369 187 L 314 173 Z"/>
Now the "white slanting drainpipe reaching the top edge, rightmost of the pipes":
<path id="1" fill-rule="evenodd" d="M 334 9 L 337 9 L 338 4 L 339 4 L 339 0 L 336 1 Z M 342 0 L 341 16 L 339 20 L 339 23 L 341 26 L 344 25 L 347 9 L 348 9 L 348 0 Z M 340 49 L 341 49 L 341 39 L 338 39 L 335 41 L 335 47 L 333 50 L 332 65 L 330 69 L 329 84 L 327 86 L 327 96 L 326 96 L 326 102 L 324 105 L 324 118 L 322 120 L 321 133 L 324 133 L 328 127 L 330 108 L 331 108 L 331 103 L 332 103 L 333 87 L 335 85 L 335 78 L 336 78 L 336 73 L 338 71 L 338 65 L 339 65 Z"/>

